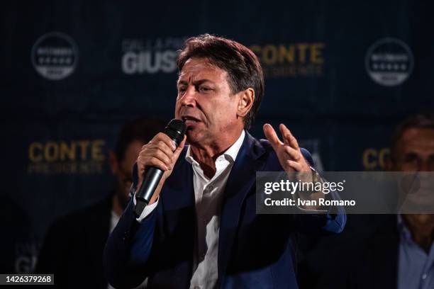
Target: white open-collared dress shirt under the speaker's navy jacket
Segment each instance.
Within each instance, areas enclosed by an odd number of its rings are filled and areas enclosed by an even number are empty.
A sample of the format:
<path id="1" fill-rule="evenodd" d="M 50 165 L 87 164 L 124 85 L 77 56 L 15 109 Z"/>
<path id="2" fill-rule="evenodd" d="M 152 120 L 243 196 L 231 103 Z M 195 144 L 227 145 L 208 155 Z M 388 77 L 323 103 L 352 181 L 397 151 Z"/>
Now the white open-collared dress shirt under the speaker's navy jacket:
<path id="1" fill-rule="evenodd" d="M 196 200 L 197 234 L 194 251 L 194 268 L 191 277 L 190 288 L 215 288 L 218 281 L 218 235 L 220 232 L 220 214 L 223 193 L 226 182 L 233 167 L 245 132 L 241 132 L 226 152 L 216 159 L 216 174 L 211 179 L 204 174 L 201 166 L 191 155 L 191 147 L 187 149 L 185 159 L 193 167 L 194 197 Z M 133 200 L 135 204 L 135 198 Z M 141 222 L 152 210 L 157 207 L 157 202 L 148 205 L 140 217 Z"/>

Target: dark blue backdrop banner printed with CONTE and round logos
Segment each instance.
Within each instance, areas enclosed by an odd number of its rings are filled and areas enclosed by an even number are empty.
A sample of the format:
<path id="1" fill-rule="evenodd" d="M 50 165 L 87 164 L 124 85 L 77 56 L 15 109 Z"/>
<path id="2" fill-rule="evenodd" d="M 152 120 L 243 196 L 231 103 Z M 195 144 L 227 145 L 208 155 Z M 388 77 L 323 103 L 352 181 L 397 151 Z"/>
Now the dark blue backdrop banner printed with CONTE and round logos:
<path id="1" fill-rule="evenodd" d="M 381 170 L 394 125 L 433 110 L 430 1 L 1 6 L 1 273 L 32 271 L 55 217 L 109 194 L 107 153 L 126 120 L 172 118 L 190 36 L 260 57 L 266 94 L 250 132 L 285 123 L 323 170 Z"/>

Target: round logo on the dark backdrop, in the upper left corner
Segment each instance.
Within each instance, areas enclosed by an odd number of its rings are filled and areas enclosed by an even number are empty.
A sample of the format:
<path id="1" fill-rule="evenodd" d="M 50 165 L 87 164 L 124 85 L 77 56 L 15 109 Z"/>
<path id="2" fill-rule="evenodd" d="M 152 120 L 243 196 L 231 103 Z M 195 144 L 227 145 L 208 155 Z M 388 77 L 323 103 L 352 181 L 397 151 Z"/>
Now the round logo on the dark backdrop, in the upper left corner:
<path id="1" fill-rule="evenodd" d="M 65 79 L 77 67 L 78 48 L 65 33 L 51 32 L 35 42 L 31 58 L 33 67 L 45 79 Z"/>

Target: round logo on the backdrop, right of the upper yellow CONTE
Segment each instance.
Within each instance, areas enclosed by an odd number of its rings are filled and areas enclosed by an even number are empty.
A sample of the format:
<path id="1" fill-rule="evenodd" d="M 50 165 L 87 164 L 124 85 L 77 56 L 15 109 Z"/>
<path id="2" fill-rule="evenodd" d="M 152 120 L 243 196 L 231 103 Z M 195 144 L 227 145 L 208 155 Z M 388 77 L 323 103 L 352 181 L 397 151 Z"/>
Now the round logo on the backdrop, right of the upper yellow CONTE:
<path id="1" fill-rule="evenodd" d="M 402 84 L 413 70 L 413 54 L 406 43 L 396 38 L 374 42 L 367 51 L 365 65 L 369 77 L 377 84 Z"/>

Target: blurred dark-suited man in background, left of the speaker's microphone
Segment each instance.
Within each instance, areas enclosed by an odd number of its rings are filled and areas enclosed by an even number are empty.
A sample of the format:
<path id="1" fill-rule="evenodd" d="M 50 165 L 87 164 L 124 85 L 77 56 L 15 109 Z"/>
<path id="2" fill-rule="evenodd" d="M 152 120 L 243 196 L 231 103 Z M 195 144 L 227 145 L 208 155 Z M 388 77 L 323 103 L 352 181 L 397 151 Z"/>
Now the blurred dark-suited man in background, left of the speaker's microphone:
<path id="1" fill-rule="evenodd" d="M 128 203 L 132 168 L 141 147 L 163 128 L 160 120 L 147 118 L 126 123 L 115 151 L 109 152 L 113 192 L 99 203 L 60 217 L 50 227 L 35 271 L 54 273 L 55 287 L 108 288 L 101 261 L 104 244 Z"/>

